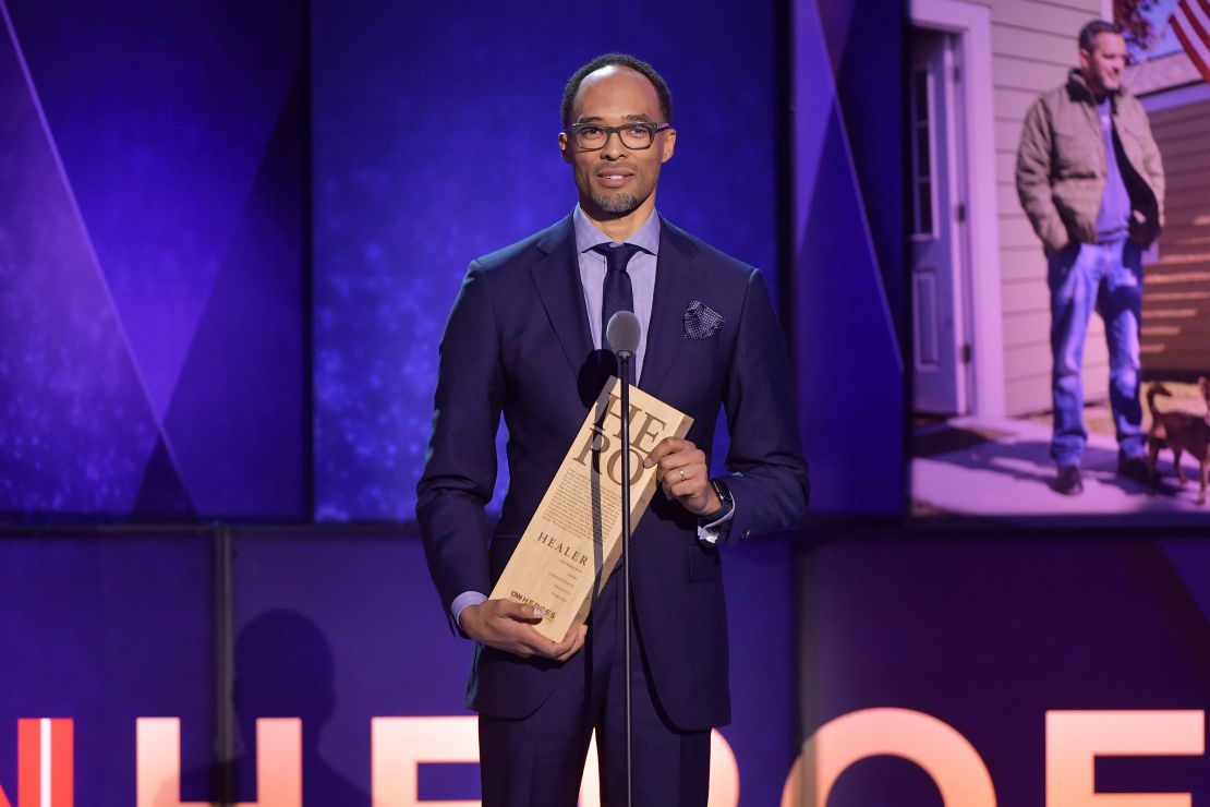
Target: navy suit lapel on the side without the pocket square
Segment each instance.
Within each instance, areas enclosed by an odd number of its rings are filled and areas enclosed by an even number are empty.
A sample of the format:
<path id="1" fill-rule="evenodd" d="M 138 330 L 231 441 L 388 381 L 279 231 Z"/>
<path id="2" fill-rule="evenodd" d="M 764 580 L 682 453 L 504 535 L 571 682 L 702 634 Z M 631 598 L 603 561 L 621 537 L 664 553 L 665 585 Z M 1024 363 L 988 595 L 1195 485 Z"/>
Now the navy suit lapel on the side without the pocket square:
<path id="1" fill-rule="evenodd" d="M 593 352 L 593 340 L 584 312 L 571 217 L 552 226 L 537 242 L 537 248 L 544 256 L 530 266 L 530 275 L 567 365 L 572 375 L 578 376 L 584 358 Z"/>

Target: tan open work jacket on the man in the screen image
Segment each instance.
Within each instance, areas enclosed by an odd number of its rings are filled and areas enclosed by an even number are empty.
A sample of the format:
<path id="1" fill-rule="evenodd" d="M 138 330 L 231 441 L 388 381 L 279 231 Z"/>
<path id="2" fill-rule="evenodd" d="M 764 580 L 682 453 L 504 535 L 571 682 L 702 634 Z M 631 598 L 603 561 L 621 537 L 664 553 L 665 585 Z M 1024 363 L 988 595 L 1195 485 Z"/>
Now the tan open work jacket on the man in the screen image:
<path id="1" fill-rule="evenodd" d="M 1164 168 L 1147 113 L 1125 88 L 1111 96 L 1113 128 L 1125 155 L 1130 237 L 1148 246 L 1164 225 Z M 1048 252 L 1096 242 L 1105 192 L 1105 139 L 1096 99 L 1079 70 L 1043 93 L 1025 116 L 1016 151 L 1016 192 Z"/>

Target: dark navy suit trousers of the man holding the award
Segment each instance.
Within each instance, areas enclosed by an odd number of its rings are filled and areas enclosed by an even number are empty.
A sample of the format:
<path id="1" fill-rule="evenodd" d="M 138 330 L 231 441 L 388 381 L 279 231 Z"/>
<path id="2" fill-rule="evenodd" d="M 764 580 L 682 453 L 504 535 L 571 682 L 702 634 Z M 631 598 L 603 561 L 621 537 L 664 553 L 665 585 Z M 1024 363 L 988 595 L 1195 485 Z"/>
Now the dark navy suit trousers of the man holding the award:
<path id="1" fill-rule="evenodd" d="M 575 807 L 592 732 L 601 803 L 626 805 L 626 659 L 622 571 L 593 605 L 584 649 L 537 710 L 522 720 L 479 716 L 485 807 Z M 633 615 L 632 615 L 633 617 Z M 641 638 L 632 621 L 632 737 L 636 807 L 707 803 L 710 732 L 682 732 L 663 715 L 651 690 Z"/>

